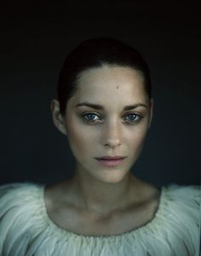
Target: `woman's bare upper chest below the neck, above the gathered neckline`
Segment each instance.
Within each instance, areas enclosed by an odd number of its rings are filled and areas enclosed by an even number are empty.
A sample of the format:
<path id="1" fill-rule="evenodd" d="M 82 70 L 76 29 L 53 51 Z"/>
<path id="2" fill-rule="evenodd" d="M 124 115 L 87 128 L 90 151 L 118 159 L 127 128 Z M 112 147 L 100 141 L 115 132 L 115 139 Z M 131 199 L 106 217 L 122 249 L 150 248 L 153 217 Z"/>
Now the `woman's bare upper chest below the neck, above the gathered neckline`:
<path id="1" fill-rule="evenodd" d="M 155 218 L 159 195 L 150 194 L 141 201 L 110 212 L 98 212 L 59 201 L 52 202 L 48 209 L 49 218 L 61 229 L 82 236 L 120 235 L 141 226 Z"/>

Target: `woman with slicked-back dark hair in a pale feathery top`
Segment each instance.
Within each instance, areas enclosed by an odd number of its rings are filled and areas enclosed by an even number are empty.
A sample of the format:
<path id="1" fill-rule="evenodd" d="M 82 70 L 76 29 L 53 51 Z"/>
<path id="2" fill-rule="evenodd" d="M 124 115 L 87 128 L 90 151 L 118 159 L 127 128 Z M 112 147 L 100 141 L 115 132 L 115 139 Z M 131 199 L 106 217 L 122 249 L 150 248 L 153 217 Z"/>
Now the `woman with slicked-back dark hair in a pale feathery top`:
<path id="1" fill-rule="evenodd" d="M 157 189 L 129 172 L 152 108 L 138 51 L 111 38 L 78 45 L 51 102 L 76 159 L 74 175 L 53 186 L 1 187 L 1 255 L 198 255 L 200 190 Z"/>

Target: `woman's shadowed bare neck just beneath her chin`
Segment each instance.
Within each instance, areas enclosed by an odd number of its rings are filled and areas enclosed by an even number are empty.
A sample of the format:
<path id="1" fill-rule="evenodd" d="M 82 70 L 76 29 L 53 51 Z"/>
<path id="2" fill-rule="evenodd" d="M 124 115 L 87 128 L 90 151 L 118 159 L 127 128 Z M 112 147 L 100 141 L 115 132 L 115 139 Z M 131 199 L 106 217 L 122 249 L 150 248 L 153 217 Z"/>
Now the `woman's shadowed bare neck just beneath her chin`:
<path id="1" fill-rule="evenodd" d="M 97 214 L 108 214 L 128 206 L 138 183 L 130 172 L 118 183 L 104 183 L 78 170 L 72 180 L 79 205 Z"/>

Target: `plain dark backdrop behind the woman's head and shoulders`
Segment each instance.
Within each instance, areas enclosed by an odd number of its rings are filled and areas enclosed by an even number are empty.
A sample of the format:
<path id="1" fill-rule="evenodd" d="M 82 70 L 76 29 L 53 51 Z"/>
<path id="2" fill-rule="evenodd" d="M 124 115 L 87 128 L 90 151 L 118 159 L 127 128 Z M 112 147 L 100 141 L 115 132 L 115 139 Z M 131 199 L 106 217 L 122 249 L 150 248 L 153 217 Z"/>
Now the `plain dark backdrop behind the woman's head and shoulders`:
<path id="1" fill-rule="evenodd" d="M 193 1 L 2 1 L 0 183 L 54 183 L 72 172 L 52 123 L 60 67 L 78 43 L 109 36 L 152 73 L 152 128 L 133 168 L 150 183 L 200 183 L 200 8 Z"/>

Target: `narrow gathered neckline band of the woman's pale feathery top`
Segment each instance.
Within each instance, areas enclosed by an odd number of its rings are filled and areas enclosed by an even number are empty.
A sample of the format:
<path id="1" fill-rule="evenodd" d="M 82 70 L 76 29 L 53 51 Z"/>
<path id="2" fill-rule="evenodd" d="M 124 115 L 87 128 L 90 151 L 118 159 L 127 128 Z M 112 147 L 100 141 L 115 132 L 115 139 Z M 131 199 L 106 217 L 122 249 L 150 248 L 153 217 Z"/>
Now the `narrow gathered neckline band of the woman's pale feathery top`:
<path id="1" fill-rule="evenodd" d="M 88 238 L 88 239 L 108 239 L 108 238 L 122 238 L 123 236 L 130 236 L 130 235 L 135 235 L 138 232 L 141 232 L 143 230 L 145 230 L 147 227 L 149 227 L 150 225 L 154 224 L 157 222 L 158 217 L 161 215 L 161 213 L 163 212 L 163 208 L 164 208 L 164 201 L 165 201 L 165 187 L 161 187 L 159 189 L 159 199 L 158 199 L 158 207 L 156 209 L 156 211 L 153 214 L 153 217 L 148 220 L 145 224 L 142 224 L 139 227 L 136 227 L 135 229 L 120 233 L 120 234 L 112 234 L 112 235 L 98 235 L 98 236 L 93 236 L 93 235 L 82 235 L 82 234 L 78 234 L 76 232 L 70 231 L 70 230 L 66 230 L 62 227 L 60 227 L 58 224 L 55 224 L 55 222 L 49 218 L 49 214 L 47 212 L 47 207 L 45 204 L 45 199 L 44 199 L 44 194 L 45 194 L 45 185 L 40 186 L 40 205 L 42 207 L 42 216 L 44 218 L 44 220 L 46 221 L 46 224 L 48 225 L 48 227 L 50 229 L 54 229 L 54 232 L 57 231 L 60 234 L 62 234 L 62 236 L 74 236 L 74 237 L 81 237 L 81 238 Z"/>

